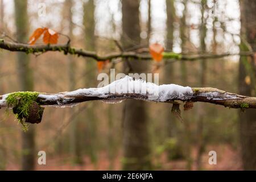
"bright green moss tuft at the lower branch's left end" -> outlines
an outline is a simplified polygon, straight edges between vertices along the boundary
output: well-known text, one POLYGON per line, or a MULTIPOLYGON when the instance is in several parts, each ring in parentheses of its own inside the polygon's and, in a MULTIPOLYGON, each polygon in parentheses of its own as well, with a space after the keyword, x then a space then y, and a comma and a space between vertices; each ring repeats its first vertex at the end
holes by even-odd
MULTIPOLYGON (((13 113, 16 114, 24 131, 27 130, 27 125, 24 123, 23 118, 27 119, 30 116, 31 107, 34 103, 37 104, 36 99, 38 95, 38 92, 15 92, 9 94, 6 98, 7 106, 13 108, 13 113)), ((39 112, 42 111, 39 109, 39 112)))

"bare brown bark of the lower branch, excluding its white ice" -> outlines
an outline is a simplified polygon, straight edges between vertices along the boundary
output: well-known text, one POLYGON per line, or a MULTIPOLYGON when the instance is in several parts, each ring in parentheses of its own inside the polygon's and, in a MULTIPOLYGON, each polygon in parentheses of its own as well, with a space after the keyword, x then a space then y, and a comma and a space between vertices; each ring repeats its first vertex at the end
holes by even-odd
MULTIPOLYGON (((69 106, 86 101, 108 101, 108 100, 142 100, 151 102, 166 102, 173 103, 174 101, 192 101, 192 102, 208 102, 210 104, 222 105, 234 109, 256 109, 256 97, 241 96, 235 93, 229 93, 216 88, 192 88, 193 94, 186 95, 187 97, 176 96, 172 100, 160 101, 158 99, 148 99, 147 94, 141 93, 106 93, 108 96, 100 97, 98 94, 71 94, 71 92, 61 92, 56 94, 40 93, 36 102, 39 105, 54 105, 54 106, 69 106), (51 96, 51 99, 49 99, 51 96)), ((0 108, 7 107, 5 98, 7 94, 0 96, 0 108)))

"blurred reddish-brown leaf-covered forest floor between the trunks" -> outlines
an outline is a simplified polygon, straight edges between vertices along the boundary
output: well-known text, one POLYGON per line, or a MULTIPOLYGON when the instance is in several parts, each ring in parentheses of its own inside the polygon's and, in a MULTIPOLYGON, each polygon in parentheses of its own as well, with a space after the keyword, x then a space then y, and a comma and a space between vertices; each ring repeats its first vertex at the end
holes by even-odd
MULTIPOLYGON (((195 162, 195 148, 192 150, 192 165, 191 169, 196 170, 195 162)), ((88 156, 84 157, 84 164, 77 165, 71 164, 70 157, 61 156, 58 158, 47 159, 46 165, 36 165, 36 170, 119 170, 121 169, 121 152, 115 156, 112 163, 109 162, 108 154, 101 152, 98 156, 98 162, 93 164, 90 162, 88 156)), ((162 154, 160 158, 154 159, 157 161, 158 167, 156 170, 186 170, 187 162, 183 160, 167 161, 167 154, 162 154)), ((14 163, 7 166, 7 170, 18 170, 19 166, 14 163)), ((242 164, 240 154, 238 150, 228 144, 222 144, 219 146, 208 146, 201 158, 201 169, 202 170, 242 170, 242 164), (210 165, 208 163, 209 155, 208 152, 214 150, 217 152, 217 164, 210 165)))

